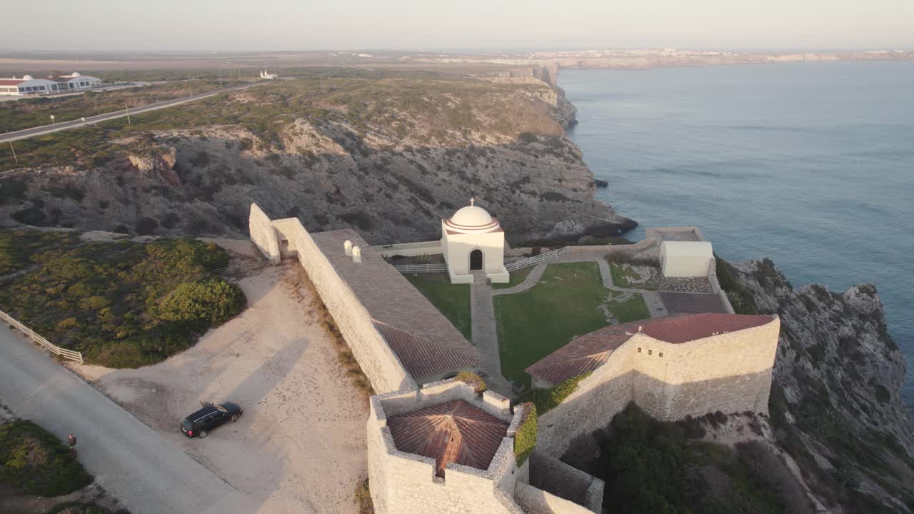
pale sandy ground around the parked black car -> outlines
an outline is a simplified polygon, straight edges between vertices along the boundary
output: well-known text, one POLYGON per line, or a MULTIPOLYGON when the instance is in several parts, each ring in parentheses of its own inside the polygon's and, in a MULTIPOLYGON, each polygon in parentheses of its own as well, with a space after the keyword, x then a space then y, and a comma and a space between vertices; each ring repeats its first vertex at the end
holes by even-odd
POLYGON ((260 270, 239 285, 250 306, 186 352, 142 369, 73 368, 180 445, 258 512, 355 512, 367 476, 367 398, 336 361, 299 266, 260 270), (238 402, 244 415, 205 439, 178 423, 199 401, 238 402))

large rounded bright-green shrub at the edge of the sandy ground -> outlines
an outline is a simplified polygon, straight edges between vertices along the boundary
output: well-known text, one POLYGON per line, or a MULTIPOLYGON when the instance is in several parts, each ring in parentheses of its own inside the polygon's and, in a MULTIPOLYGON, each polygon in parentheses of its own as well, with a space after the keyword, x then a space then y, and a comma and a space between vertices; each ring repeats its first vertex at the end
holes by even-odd
POLYGON ((162 319, 218 325, 238 315, 244 303, 239 286, 210 278, 178 285, 162 305, 162 319))

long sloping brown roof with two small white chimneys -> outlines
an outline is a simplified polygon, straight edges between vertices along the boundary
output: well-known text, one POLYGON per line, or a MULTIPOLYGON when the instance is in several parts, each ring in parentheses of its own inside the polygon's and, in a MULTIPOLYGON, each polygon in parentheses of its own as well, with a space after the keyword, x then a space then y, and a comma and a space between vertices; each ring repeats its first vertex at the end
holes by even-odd
MULTIPOLYGON (((433 341, 440 348, 446 348, 462 356, 473 356, 482 361, 479 351, 463 337, 448 318, 444 317, 423 294, 420 293, 409 280, 399 273, 374 251, 368 243, 358 235, 356 230, 332 230, 311 234, 324 256, 334 266, 336 273, 349 285, 358 301, 365 306, 368 314, 376 321, 395 327, 401 332, 413 337, 433 341), (352 258, 343 252, 343 242, 349 240, 353 245, 362 250, 362 262, 352 262, 352 258)), ((391 347, 393 348, 393 346, 391 347)), ((409 354, 410 348, 423 348, 423 345, 404 344, 403 354, 397 351, 398 357, 406 365, 407 361, 416 363, 416 369, 440 369, 439 363, 420 361, 430 354, 423 352, 418 355, 409 354)), ((460 364, 462 359, 449 361, 460 364)), ((463 365, 443 371, 453 371, 464 368, 463 365)), ((442 371, 442 372, 443 372, 442 371)), ((411 373, 410 373, 411 374, 411 373)), ((413 379, 421 376, 413 375, 413 379)))

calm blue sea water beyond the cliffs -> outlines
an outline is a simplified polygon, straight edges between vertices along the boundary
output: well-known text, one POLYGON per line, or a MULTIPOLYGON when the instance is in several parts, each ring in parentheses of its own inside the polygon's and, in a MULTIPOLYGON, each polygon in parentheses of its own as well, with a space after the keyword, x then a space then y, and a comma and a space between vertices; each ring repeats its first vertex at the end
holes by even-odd
MULTIPOLYGON (((914 362, 914 62, 562 70, 598 198, 794 287, 875 284, 914 362)), ((902 390, 914 407, 914 380, 902 390)))

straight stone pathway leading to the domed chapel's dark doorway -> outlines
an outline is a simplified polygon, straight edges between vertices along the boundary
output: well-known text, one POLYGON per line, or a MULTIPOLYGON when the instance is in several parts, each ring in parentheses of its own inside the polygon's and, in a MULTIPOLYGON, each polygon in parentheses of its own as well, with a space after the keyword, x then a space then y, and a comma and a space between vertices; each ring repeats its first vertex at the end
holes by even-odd
POLYGON ((515 396, 511 382, 502 376, 502 359, 498 350, 498 327, 495 325, 495 308, 492 286, 485 284, 485 273, 473 272, 470 286, 470 310, 473 328, 473 346, 485 359, 485 383, 489 389, 507 398, 515 396))

